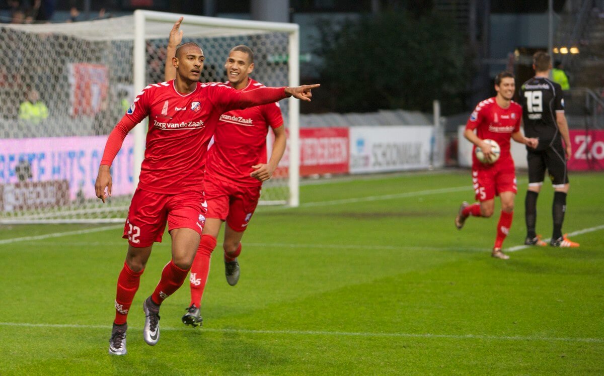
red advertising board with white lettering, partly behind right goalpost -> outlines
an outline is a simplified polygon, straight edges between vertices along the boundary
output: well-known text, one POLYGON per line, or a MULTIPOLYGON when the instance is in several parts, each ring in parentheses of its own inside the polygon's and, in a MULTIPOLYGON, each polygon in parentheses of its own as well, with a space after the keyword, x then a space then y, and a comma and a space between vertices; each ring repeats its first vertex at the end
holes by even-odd
MULTIPOLYGON (((300 176, 348 173, 349 148, 348 128, 300 129, 300 176)), ((289 144, 275 174, 287 173, 288 165, 289 144)))

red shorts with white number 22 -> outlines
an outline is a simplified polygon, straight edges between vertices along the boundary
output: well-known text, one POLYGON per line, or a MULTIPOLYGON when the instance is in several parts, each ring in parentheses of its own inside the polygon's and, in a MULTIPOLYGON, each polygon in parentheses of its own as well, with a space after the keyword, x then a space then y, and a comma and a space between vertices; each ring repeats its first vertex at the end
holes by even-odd
POLYGON ((199 233, 205 225, 204 194, 190 191, 180 194, 153 193, 137 188, 130 202, 124 225, 124 239, 133 247, 149 247, 161 242, 165 223, 168 229, 188 228, 199 233))

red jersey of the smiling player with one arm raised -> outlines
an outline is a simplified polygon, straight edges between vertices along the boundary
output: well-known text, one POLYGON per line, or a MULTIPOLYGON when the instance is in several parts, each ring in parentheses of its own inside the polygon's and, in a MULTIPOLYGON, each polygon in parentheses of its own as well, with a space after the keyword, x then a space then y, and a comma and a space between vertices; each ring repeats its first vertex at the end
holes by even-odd
MULTIPOLYGON (((248 86, 242 90, 263 87, 263 84, 249 78, 248 86)), ((208 151, 206 174, 245 186, 262 185, 249 174, 254 171, 253 165, 267 161, 268 127, 275 129, 282 125, 283 116, 278 103, 223 113, 214 133, 214 144, 208 151)))

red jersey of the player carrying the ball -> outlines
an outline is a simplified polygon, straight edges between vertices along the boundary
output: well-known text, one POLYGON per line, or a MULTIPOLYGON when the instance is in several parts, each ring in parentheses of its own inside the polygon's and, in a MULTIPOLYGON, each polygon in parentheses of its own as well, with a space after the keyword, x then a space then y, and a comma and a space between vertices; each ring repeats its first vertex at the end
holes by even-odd
MULTIPOLYGON (((510 106, 503 109, 492 97, 478 103, 467 121, 466 129, 475 129, 479 138, 490 138, 499 144, 501 156, 495 164, 513 163, 510 138, 512 133, 520 130, 521 118, 522 107, 518 103, 510 101, 510 106)), ((476 145, 472 148, 472 168, 486 167, 476 158, 475 148, 476 145)))

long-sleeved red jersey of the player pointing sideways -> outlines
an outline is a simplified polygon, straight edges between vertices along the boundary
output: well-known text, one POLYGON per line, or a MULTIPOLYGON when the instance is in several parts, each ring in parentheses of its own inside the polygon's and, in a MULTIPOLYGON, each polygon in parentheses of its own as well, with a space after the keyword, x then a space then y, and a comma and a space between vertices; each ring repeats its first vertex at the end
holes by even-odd
POLYGON ((101 165, 111 165, 129 130, 149 116, 138 186, 164 194, 203 190, 208 143, 220 115, 285 97, 285 88, 243 92, 222 83, 197 83, 193 92, 181 94, 173 80, 149 85, 112 130, 101 165))

